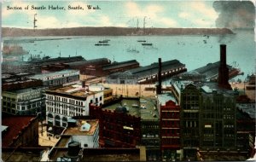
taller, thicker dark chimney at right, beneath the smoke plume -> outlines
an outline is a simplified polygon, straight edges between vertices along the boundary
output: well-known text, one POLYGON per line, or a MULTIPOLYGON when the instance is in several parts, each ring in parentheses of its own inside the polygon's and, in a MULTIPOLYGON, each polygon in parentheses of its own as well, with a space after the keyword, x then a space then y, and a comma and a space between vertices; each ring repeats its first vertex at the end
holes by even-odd
POLYGON ((226 64, 226 45, 220 44, 220 62, 218 67, 218 87, 232 90, 229 84, 229 68, 226 64))

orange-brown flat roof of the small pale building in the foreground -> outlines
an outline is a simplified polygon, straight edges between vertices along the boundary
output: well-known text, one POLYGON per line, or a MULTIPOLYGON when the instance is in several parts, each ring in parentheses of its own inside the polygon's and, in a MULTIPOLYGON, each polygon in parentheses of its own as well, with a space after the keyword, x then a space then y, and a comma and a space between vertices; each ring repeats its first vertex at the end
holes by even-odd
POLYGON ((92 135, 94 135, 96 128, 98 126, 99 126, 99 120, 79 119, 79 120, 77 120, 77 126, 76 127, 67 127, 67 129, 63 132, 63 135, 92 136, 92 135), (90 124, 90 130, 81 131, 80 128, 85 123, 90 124))

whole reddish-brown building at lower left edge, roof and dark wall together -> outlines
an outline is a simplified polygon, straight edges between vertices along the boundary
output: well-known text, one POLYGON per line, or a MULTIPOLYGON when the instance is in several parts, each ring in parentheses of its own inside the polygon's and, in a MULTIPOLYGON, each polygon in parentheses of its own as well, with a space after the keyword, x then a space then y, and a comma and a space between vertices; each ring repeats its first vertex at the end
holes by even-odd
POLYGON ((3 116, 2 148, 38 147, 38 116, 3 116))

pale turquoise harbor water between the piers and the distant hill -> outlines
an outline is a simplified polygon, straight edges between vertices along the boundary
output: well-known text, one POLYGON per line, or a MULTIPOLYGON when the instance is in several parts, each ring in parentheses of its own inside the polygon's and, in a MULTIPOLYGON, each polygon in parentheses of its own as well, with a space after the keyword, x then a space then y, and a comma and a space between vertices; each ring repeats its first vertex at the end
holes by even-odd
MULTIPOLYGON (((111 61, 137 60, 141 66, 177 59, 186 65, 188 71, 219 61, 219 44, 227 45, 227 63, 241 68, 240 78, 254 72, 255 44, 254 32, 237 30, 236 34, 218 35, 182 35, 182 36, 100 36, 100 37, 37 37, 3 38, 3 45, 18 44, 29 52, 23 55, 28 60, 31 55, 41 58, 68 57, 82 55, 84 59, 108 58, 111 61), (109 39, 109 45, 95 44, 109 39), (142 45, 145 40, 152 45, 142 45), (132 50, 131 50, 132 49, 132 50)), ((21 59, 21 57, 20 57, 21 59)))

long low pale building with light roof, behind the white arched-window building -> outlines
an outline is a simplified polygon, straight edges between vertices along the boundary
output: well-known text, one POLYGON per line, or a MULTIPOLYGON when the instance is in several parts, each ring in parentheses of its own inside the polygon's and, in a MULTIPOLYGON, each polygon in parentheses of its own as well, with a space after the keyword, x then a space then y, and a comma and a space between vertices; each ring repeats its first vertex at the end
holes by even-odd
POLYGON ((45 87, 79 83, 79 70, 63 70, 33 75, 29 78, 43 81, 45 87))

